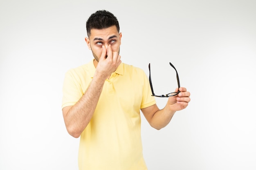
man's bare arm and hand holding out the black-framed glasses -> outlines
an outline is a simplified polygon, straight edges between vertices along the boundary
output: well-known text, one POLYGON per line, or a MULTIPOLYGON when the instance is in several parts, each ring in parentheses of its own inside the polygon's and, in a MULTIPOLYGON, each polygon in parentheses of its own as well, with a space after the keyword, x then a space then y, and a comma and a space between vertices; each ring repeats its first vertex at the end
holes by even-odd
POLYGON ((142 108, 141 112, 144 114, 150 126, 160 130, 171 121, 176 111, 188 106, 190 102, 189 96, 190 93, 186 91, 186 88, 180 87, 180 93, 177 96, 169 97, 166 106, 162 110, 154 104, 147 108, 142 108))

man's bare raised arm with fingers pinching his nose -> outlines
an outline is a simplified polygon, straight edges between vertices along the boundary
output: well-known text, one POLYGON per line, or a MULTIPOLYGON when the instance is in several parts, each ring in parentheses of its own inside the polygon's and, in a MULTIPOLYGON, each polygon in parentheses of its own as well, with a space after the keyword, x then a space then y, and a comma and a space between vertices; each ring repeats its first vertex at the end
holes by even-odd
POLYGON ((99 101, 105 80, 121 64, 121 56, 117 52, 112 52, 111 46, 108 46, 108 58, 105 58, 105 46, 102 48, 103 51, 99 58, 99 63, 87 90, 74 106, 67 106, 62 109, 67 132, 76 138, 80 137, 83 130, 89 124, 99 101))

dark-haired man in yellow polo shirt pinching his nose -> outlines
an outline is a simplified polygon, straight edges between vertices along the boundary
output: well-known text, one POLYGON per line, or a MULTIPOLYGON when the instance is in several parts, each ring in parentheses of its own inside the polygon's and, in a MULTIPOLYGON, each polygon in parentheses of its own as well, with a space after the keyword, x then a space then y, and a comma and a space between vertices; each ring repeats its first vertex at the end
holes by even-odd
POLYGON ((86 29, 94 59, 66 73, 62 104, 68 133, 80 137, 79 170, 146 170, 140 110, 159 130, 188 106, 190 93, 181 87, 159 110, 144 71, 121 63, 117 18, 97 11, 86 29))

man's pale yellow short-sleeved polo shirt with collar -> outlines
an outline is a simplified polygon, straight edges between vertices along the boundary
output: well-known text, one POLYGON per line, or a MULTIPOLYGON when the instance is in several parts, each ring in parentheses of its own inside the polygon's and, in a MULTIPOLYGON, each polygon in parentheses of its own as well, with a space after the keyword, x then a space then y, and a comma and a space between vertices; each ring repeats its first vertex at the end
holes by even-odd
MULTIPOLYGON (((92 81, 93 60, 65 75, 63 104, 73 106, 92 81)), ((106 79, 90 123, 80 136, 79 170, 146 170, 140 109, 155 104, 144 71, 121 63, 106 79)))

